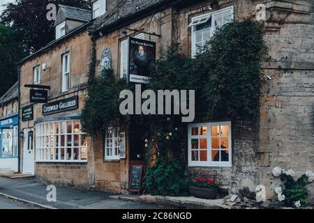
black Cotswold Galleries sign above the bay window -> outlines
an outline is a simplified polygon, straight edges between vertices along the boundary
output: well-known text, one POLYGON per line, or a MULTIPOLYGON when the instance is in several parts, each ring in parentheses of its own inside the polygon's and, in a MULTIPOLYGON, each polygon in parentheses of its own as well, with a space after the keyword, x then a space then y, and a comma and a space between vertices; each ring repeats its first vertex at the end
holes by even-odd
POLYGON ((74 96, 43 105, 43 115, 78 109, 78 97, 74 96))

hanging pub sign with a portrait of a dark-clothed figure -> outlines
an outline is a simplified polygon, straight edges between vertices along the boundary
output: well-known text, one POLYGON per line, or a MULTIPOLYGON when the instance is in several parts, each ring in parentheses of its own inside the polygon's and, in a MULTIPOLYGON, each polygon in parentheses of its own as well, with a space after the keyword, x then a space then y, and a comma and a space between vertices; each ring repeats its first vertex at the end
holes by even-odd
POLYGON ((156 43, 129 38, 128 46, 128 80, 147 84, 149 67, 152 62, 156 61, 156 43))

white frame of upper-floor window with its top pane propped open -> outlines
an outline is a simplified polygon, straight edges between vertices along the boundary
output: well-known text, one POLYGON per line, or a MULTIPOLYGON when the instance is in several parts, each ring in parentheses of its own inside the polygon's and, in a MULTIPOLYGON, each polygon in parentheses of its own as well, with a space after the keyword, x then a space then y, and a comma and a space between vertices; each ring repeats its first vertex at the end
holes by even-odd
MULTIPOLYGON (((199 16, 195 16, 192 18, 190 24, 188 25, 188 27, 191 27, 191 33, 192 33, 192 38, 191 38, 191 45, 192 45, 192 57, 194 58, 195 56, 197 56, 196 53, 196 31, 195 31, 195 26, 200 25, 200 24, 204 24, 206 22, 208 22, 208 20, 211 18, 211 28, 209 29, 209 38, 211 38, 211 36, 214 35, 215 30, 217 29, 218 26, 215 26, 215 16, 220 14, 220 13, 225 13, 226 11, 230 10, 230 15, 231 15, 231 20, 230 22, 232 22, 232 20, 234 20, 234 7, 230 6, 227 8, 223 8, 221 10, 217 10, 213 13, 207 13, 205 15, 199 15, 199 16), (204 19, 204 20, 202 20, 204 19)), ((205 30, 205 29, 204 29, 205 30)), ((203 31, 204 31, 203 30, 203 31)), ((207 38, 207 40, 209 40, 209 38, 207 38)))

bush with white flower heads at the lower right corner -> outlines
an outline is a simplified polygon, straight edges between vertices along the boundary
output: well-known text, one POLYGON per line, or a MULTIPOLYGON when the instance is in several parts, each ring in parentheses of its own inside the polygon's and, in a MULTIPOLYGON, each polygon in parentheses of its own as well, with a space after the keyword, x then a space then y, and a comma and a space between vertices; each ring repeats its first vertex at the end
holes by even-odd
POLYGON ((283 185, 275 188, 279 201, 285 203, 286 206, 296 208, 307 203, 309 194, 307 185, 314 180, 312 171, 306 171, 297 180, 294 180, 295 173, 292 169, 286 171, 280 167, 275 167, 273 169, 273 175, 281 178, 283 181, 283 185))

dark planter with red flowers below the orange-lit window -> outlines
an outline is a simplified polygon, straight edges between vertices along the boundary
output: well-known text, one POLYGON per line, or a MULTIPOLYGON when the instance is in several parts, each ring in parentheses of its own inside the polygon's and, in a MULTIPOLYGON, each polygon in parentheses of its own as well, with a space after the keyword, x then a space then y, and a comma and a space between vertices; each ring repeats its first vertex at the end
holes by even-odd
POLYGON ((191 196, 202 199, 216 199, 218 195, 218 184, 216 179, 195 178, 190 181, 189 192, 191 196))

